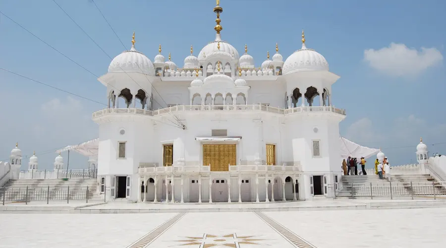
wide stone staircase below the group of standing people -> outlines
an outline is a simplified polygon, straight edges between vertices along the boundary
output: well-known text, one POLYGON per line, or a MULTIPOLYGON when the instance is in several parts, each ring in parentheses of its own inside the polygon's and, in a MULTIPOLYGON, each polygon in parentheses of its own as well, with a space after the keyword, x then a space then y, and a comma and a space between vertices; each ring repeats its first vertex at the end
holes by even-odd
POLYGON ((355 196, 417 196, 446 195, 445 184, 436 182, 428 174, 391 175, 391 184, 387 179, 380 180, 378 175, 342 176, 342 189, 336 192, 339 197, 355 196), (353 185, 353 190, 352 190, 353 185), (390 187, 391 185, 391 187, 390 187))

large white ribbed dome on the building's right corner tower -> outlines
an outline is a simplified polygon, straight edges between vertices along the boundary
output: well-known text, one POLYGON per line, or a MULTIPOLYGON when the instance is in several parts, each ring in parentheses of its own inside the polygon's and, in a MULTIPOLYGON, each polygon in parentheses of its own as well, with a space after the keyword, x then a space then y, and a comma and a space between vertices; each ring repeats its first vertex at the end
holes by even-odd
POLYGON ((329 65, 327 60, 314 51, 305 47, 305 43, 302 44, 302 49, 294 52, 283 63, 283 75, 304 70, 322 70, 328 71, 329 65))

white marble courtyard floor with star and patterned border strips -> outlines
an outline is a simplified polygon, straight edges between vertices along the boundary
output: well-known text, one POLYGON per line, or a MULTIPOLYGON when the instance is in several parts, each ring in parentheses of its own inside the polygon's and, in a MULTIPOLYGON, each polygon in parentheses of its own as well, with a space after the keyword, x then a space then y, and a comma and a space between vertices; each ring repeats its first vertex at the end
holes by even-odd
POLYGON ((1 248, 444 248, 446 208, 0 214, 1 248))

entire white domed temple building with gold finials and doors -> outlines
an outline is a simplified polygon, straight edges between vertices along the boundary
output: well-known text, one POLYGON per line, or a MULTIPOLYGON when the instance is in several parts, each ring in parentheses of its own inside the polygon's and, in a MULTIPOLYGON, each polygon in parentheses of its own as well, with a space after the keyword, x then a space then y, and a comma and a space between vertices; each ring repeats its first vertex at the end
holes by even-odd
MULTIPOLYGON (((132 46, 99 81, 98 181, 106 199, 244 202, 332 197, 340 177, 339 76, 305 44, 284 62, 254 59, 215 39, 179 68, 162 46, 151 62, 132 46), (155 91, 156 92, 153 92, 155 91), (106 189, 106 190, 104 190, 106 189), (104 192, 105 191, 105 192, 104 192)), ((274 44, 273 44, 274 46, 274 44)), ((375 153, 376 154, 376 153, 375 153)))

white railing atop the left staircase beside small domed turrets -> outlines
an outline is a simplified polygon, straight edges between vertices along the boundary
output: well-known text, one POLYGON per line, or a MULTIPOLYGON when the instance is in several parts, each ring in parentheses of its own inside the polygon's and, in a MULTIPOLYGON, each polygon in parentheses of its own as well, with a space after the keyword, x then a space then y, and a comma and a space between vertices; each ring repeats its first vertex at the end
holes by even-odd
POLYGON ((97 170, 31 170, 20 171, 20 179, 96 178, 97 170))

